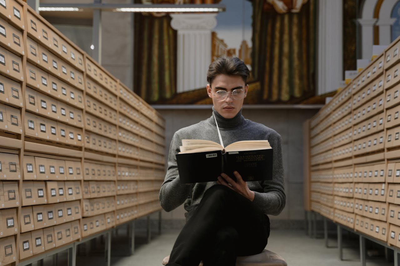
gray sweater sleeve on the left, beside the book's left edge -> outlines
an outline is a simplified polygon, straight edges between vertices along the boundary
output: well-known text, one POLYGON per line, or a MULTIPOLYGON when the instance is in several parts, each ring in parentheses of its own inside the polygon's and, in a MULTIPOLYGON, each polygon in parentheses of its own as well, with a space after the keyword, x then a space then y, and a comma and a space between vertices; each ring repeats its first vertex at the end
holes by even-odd
POLYGON ((172 137, 170 152, 168 155, 168 169, 160 189, 160 204, 167 212, 180 206, 188 198, 192 191, 191 185, 181 184, 179 180, 178 165, 176 163, 176 153, 182 139, 178 132, 172 137))

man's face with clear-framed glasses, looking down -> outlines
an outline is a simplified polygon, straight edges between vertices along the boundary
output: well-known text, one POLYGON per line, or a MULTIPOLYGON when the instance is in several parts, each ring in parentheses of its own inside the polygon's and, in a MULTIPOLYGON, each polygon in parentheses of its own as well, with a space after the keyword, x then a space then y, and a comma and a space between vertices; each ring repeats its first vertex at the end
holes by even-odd
MULTIPOLYGON (((248 86, 244 83, 240 75, 216 75, 212 84, 207 85, 207 93, 212 98, 214 109, 224 118, 235 117, 240 109, 242 109, 243 100, 246 97, 248 86), (228 93, 228 97, 224 101, 218 101, 217 91, 232 92, 234 89, 242 89, 244 91, 243 99, 236 100, 232 93, 228 93)), ((236 97, 238 98, 238 97, 236 97)))

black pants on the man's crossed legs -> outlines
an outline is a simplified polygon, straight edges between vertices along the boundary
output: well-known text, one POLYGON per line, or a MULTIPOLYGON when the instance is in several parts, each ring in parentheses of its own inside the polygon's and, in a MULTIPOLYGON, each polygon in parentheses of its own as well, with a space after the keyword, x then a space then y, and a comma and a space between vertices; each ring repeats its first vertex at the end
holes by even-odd
POLYGON ((264 250, 270 221, 260 208, 223 185, 204 193, 175 241, 169 266, 234 266, 236 256, 264 250))

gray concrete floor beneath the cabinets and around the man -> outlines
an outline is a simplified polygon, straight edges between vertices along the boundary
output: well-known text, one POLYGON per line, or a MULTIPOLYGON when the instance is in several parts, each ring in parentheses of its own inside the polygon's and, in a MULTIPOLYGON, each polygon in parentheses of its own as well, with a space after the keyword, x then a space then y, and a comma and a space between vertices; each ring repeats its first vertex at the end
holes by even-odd
MULTIPOLYGON (((162 259, 167 256, 175 239, 178 230, 169 230, 158 235, 152 232, 152 240, 146 243, 146 231, 135 230, 135 252, 128 256, 128 238, 126 230, 119 229, 118 234, 112 238, 111 265, 112 266, 161 266, 162 259)), ((280 254, 285 258, 289 266, 360 266, 358 247, 358 236, 356 234, 343 233, 343 258, 338 259, 338 248, 335 232, 329 234, 328 245, 325 247, 325 240, 321 238, 310 238, 304 230, 272 230, 268 239, 267 249, 280 254)), ((90 251, 86 254, 84 245, 81 246, 76 257, 77 266, 103 266, 104 240, 98 238, 91 242, 90 251)), ((390 250, 388 257, 391 262, 386 261, 384 248, 366 240, 368 253, 376 253, 375 256, 367 257, 367 266, 393 266, 393 252, 390 250)), ((58 254, 57 266, 66 266, 66 252, 58 254)), ((52 258, 46 258, 43 264, 34 263, 32 266, 53 265, 52 258)))

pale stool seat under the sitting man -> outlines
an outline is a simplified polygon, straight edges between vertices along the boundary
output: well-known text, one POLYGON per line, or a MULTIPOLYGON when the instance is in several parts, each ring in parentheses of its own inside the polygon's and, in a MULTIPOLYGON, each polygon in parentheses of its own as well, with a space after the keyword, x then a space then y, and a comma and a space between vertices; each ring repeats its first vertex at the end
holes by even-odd
MULTIPOLYGON (((170 256, 166 256, 164 260, 162 260, 162 265, 166 265, 170 256)), ((287 266, 288 264, 278 254, 264 249, 260 254, 238 257, 236 259, 236 266, 287 266)), ((203 263, 200 262, 199 266, 203 266, 203 263)))

